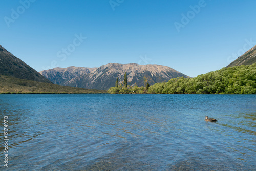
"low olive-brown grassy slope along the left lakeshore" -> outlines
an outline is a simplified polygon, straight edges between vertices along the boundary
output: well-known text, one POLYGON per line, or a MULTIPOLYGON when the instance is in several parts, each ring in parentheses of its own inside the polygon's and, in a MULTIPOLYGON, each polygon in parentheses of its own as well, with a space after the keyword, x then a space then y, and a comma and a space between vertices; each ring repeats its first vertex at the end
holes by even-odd
MULTIPOLYGON (((19 79, 0 75, 0 94, 4 93, 106 93, 105 90, 92 90, 59 86, 52 83, 19 79)), ((8 94, 9 94, 8 93, 8 94)))

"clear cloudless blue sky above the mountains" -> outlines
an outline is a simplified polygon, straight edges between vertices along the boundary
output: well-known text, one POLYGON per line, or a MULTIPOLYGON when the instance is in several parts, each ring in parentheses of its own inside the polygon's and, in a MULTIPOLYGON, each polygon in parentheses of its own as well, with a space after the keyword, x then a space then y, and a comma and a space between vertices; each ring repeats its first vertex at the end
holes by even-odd
POLYGON ((37 71, 139 63, 195 77, 256 45, 255 0, 0 2, 0 44, 37 71))

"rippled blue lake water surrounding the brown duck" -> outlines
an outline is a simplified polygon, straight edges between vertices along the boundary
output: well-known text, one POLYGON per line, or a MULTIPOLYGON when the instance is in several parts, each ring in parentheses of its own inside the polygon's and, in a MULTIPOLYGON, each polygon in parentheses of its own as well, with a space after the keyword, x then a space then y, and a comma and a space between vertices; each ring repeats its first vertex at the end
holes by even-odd
POLYGON ((5 170, 256 170, 256 95, 0 95, 0 113, 5 170))

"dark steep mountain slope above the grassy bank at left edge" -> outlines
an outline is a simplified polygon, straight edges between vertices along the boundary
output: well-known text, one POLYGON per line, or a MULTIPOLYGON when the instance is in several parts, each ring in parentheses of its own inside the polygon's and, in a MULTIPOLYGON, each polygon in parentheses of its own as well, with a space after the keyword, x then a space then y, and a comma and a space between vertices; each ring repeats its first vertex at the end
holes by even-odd
POLYGON ((52 83, 0 45, 0 75, 52 83))

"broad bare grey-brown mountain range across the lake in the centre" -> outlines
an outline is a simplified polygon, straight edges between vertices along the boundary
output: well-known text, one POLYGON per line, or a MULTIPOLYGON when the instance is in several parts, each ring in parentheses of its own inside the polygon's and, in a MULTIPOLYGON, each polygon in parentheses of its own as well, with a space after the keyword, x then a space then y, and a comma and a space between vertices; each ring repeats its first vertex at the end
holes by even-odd
POLYGON ((120 83, 122 83, 125 72, 127 73, 128 84, 133 85, 136 83, 138 86, 143 86, 144 76, 151 85, 157 82, 167 82, 171 78, 188 77, 170 67, 161 65, 138 65, 136 63, 108 63, 99 68, 54 68, 41 71, 40 73, 52 82, 56 82, 60 85, 107 90, 115 86, 116 77, 118 77, 120 83), (88 73, 85 73, 85 70, 88 73), (84 73, 79 73, 78 71, 83 71, 84 73))

